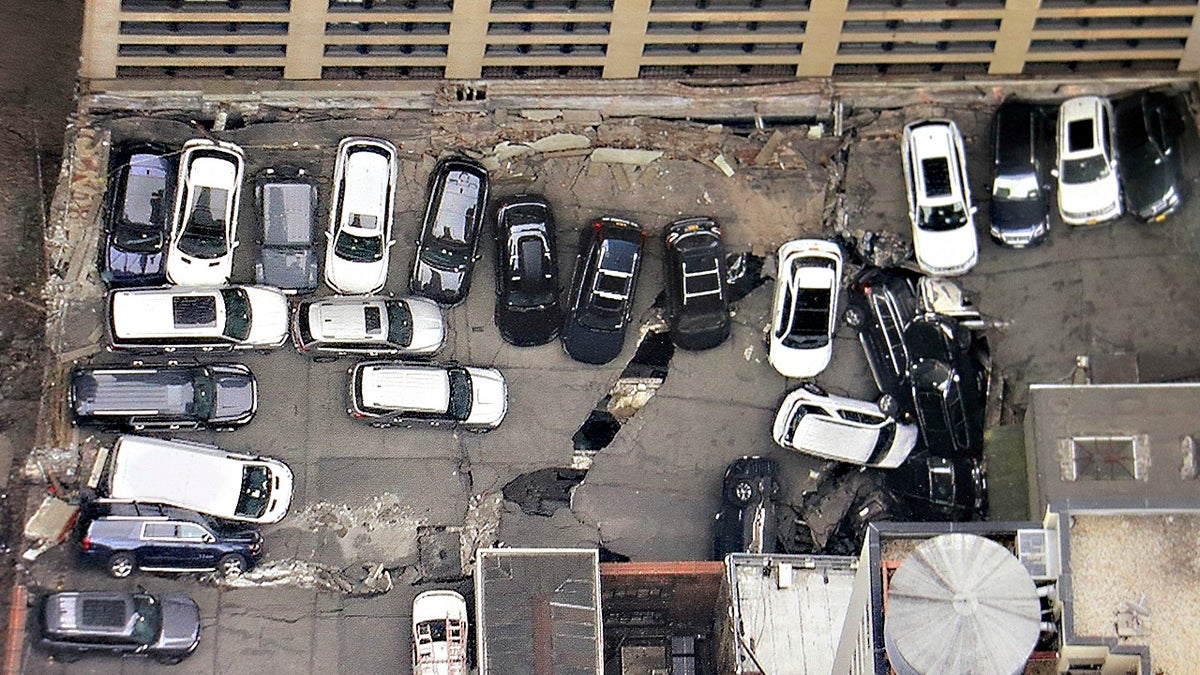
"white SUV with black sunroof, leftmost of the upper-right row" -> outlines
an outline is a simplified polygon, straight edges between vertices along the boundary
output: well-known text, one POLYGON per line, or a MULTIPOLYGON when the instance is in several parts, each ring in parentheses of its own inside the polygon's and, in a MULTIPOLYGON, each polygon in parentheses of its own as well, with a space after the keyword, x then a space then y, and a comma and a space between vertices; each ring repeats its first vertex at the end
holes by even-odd
POLYGON ((928 274, 965 274, 979 258, 962 135, 950 120, 904 127, 904 183, 917 264, 928 274))

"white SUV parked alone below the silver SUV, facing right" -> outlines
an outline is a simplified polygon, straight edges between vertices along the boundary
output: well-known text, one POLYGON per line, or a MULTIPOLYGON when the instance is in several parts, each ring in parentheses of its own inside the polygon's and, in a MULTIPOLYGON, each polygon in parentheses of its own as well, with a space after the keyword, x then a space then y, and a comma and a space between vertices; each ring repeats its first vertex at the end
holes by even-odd
POLYGON ((354 364, 349 374, 346 412, 372 426, 490 431, 509 410, 508 384, 493 368, 368 360, 354 364))

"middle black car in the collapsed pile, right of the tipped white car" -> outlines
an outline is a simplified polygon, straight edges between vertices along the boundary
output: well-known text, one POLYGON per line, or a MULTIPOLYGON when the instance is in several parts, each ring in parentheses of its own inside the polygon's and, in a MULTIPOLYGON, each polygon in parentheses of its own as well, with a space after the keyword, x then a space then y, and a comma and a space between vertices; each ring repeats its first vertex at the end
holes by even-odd
POLYGON ((950 317, 920 316, 905 330, 913 410, 938 456, 978 456, 990 362, 986 345, 950 317))

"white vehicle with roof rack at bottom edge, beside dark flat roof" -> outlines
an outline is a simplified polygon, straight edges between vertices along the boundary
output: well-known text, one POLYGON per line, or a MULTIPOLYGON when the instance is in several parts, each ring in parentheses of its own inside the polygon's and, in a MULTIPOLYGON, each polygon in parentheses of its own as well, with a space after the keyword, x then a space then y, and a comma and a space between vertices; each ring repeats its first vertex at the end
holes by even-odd
POLYGON ((413 598, 413 675, 467 675, 467 601, 455 591, 413 598))

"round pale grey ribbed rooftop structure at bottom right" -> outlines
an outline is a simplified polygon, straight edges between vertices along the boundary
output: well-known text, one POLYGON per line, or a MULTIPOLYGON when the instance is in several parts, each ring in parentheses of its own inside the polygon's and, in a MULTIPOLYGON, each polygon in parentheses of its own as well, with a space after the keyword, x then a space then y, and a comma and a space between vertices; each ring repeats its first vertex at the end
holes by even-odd
POLYGON ((1025 669, 1039 619, 1033 579, 1008 549, 942 534, 892 575, 883 638, 900 675, 1009 675, 1025 669))

